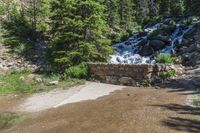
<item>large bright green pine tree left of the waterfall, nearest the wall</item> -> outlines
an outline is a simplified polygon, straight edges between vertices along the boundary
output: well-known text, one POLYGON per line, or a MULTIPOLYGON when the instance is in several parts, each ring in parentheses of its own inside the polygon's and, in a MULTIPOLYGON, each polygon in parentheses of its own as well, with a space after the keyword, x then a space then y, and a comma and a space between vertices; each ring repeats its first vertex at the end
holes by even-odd
POLYGON ((65 68, 83 61, 106 61, 112 48, 104 6, 95 0, 58 0, 51 5, 54 62, 65 68))

